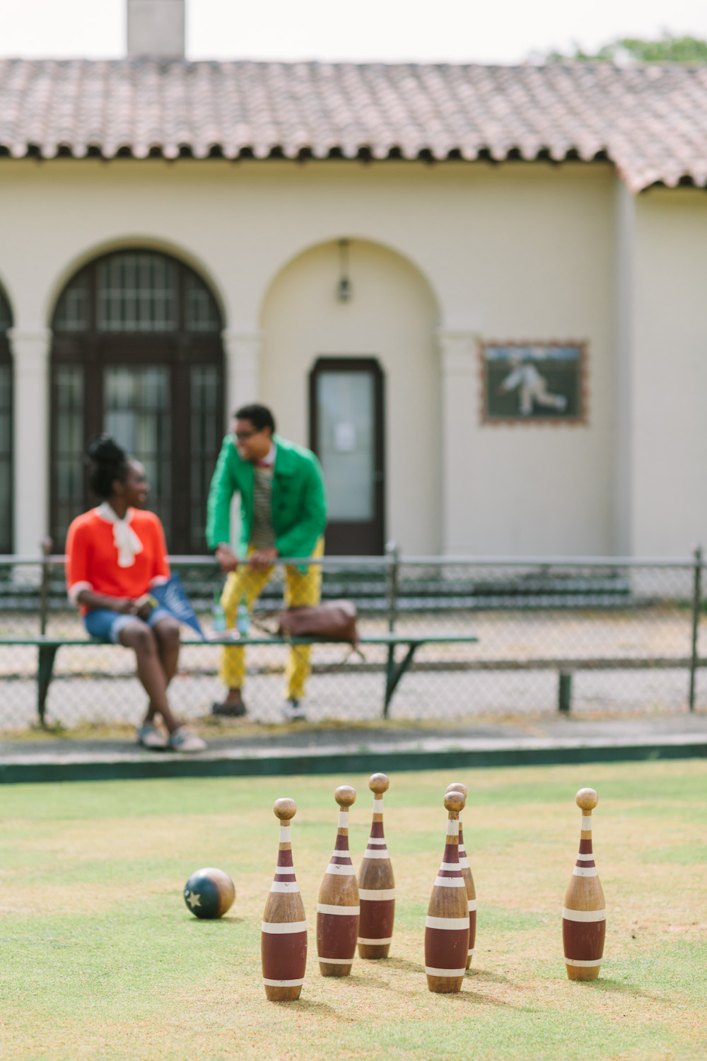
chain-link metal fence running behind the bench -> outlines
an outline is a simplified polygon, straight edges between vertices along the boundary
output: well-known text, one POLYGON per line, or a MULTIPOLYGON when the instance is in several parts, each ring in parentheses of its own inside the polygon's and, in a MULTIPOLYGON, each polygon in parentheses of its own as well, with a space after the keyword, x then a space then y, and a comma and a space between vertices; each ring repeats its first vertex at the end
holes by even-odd
MULTIPOLYGON (((326 557, 322 598, 356 603, 360 632, 424 641, 390 703, 391 720, 547 713, 687 711, 707 701, 701 653, 707 606, 700 551, 684 560, 624 558, 326 557), (456 641, 474 634, 477 643, 456 641)), ((212 557, 174 557, 205 628, 223 576, 212 557)), ((282 606, 278 566, 255 616, 282 606)), ((254 630, 253 630, 254 632, 254 630)), ((0 727, 37 721, 35 643, 22 638, 85 637, 66 598, 64 557, 0 557, 0 727)), ((397 658, 405 654, 401 645, 397 658)), ((219 647, 185 644, 170 696, 187 718, 223 697, 219 647)), ((288 648, 247 649, 244 699, 253 721, 281 720, 288 648)), ((347 659, 344 645, 316 645, 307 683, 312 721, 383 715, 385 645, 347 659)), ((145 694, 135 657, 91 643, 58 649, 46 720, 136 723, 145 694)))

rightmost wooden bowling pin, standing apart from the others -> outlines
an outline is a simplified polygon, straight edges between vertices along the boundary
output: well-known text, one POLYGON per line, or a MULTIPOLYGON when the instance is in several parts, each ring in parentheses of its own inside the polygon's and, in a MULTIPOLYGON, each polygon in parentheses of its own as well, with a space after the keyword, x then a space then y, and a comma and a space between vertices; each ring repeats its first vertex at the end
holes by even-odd
POLYGON ((594 788, 580 788, 576 800, 582 808, 580 853, 565 892, 562 940, 570 980, 596 980, 606 933, 606 903, 591 852, 591 812, 599 797, 594 788))

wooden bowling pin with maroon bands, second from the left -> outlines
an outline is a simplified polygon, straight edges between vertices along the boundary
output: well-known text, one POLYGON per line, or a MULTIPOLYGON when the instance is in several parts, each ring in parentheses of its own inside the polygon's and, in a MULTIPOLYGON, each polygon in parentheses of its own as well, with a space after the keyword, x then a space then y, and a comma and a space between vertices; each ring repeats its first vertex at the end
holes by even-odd
POLYGON ((339 804, 339 827, 319 889, 317 953, 322 976, 348 976, 358 939, 358 885, 349 854, 349 807, 356 793, 350 785, 339 785, 334 798, 339 804))

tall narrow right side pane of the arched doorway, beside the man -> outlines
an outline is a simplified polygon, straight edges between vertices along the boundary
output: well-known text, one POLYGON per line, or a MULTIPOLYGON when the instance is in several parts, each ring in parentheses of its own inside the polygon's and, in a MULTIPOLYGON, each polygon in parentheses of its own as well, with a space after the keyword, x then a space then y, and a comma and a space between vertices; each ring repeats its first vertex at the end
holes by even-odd
POLYGON ((215 365, 191 371, 192 542, 206 549, 207 498, 222 442, 222 396, 215 365))

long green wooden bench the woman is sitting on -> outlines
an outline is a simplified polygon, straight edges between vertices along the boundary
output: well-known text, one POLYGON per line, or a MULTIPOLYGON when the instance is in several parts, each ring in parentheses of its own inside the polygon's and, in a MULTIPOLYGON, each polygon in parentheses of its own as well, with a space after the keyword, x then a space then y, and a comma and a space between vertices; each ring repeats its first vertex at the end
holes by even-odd
MULTIPOLYGON (((360 638, 360 645, 384 645, 387 648, 386 660, 386 684, 383 701, 383 717, 388 717, 391 700, 397 689, 401 678, 409 669, 414 654, 422 645, 443 645, 443 644, 475 644, 478 638, 471 633, 373 633, 365 634, 360 638), (395 648, 399 645, 406 646, 406 653, 401 660, 395 660, 395 648)), ((208 641, 199 641, 196 638, 182 640, 182 645, 229 645, 231 647, 249 645, 340 645, 340 641, 328 641, 322 638, 279 638, 279 637, 248 637, 242 640, 232 637, 213 637, 208 641)), ((54 661, 59 648, 66 645, 84 646, 95 648, 111 647, 103 641, 94 641, 88 638, 52 638, 49 634, 40 634, 34 638, 0 638, 0 648, 3 646, 35 646, 38 650, 37 661, 37 714, 40 725, 45 725, 47 710, 47 694, 54 677, 54 661)))

